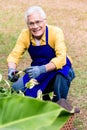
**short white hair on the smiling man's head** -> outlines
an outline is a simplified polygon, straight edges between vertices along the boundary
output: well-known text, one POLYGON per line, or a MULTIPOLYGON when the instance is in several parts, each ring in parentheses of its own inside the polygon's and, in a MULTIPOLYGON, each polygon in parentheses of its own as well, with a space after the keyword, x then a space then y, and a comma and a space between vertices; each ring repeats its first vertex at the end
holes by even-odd
POLYGON ((44 10, 39 7, 39 6, 31 6, 28 8, 28 10, 25 12, 25 21, 27 22, 27 17, 29 15, 31 15, 33 12, 38 12, 41 14, 41 16, 45 19, 46 18, 46 14, 44 12, 44 10))

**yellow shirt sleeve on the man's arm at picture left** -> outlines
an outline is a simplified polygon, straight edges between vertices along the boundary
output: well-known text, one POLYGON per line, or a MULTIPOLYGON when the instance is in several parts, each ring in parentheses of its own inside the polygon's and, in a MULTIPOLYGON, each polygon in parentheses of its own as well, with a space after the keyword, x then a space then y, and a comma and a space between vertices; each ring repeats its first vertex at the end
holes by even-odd
POLYGON ((19 35, 16 45, 7 58, 7 62, 18 64, 29 44, 29 32, 23 30, 19 35))

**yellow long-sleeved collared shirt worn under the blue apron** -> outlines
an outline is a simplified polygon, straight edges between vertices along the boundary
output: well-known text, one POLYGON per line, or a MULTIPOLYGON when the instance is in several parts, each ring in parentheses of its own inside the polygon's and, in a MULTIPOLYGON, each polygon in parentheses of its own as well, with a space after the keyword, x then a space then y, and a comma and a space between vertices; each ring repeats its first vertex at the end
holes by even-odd
MULTIPOLYGON (((56 57, 51 59, 57 69, 61 69, 66 64, 66 45, 64 43, 64 35, 60 28, 47 25, 48 26, 48 43, 54 49, 56 57)), ((19 63, 20 58, 24 52, 29 48, 30 41, 34 46, 36 46, 35 39, 32 37, 29 29, 22 30, 17 43, 9 54, 7 62, 14 62, 15 64, 19 63)), ((45 45, 45 33, 40 39, 40 45, 45 45)))

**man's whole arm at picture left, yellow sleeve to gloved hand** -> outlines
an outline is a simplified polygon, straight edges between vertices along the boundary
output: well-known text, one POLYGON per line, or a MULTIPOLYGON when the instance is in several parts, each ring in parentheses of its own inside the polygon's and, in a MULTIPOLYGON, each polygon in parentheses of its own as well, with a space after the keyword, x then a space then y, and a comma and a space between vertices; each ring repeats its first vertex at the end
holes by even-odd
POLYGON ((29 38, 26 37, 29 35, 26 35, 25 32, 22 32, 21 35, 19 36, 17 43, 14 47, 14 49, 12 50, 12 52, 9 54, 8 58, 7 58, 7 62, 8 62, 8 79, 11 82, 15 82, 18 80, 19 75, 16 75, 16 73, 18 72, 16 70, 17 68, 17 64, 19 63, 19 60, 21 58, 21 56, 23 55, 24 51, 26 50, 28 44, 29 43, 29 38))

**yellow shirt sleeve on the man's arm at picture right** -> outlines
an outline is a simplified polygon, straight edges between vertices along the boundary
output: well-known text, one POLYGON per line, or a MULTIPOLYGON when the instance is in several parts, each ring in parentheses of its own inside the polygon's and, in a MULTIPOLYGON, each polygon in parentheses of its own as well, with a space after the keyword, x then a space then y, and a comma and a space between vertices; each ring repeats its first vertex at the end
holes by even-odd
POLYGON ((53 62, 57 69, 61 69, 66 64, 66 45, 64 42, 64 34, 60 28, 55 28, 53 31, 52 46, 55 50, 55 55, 51 62, 53 62))

